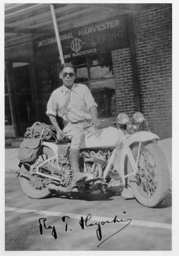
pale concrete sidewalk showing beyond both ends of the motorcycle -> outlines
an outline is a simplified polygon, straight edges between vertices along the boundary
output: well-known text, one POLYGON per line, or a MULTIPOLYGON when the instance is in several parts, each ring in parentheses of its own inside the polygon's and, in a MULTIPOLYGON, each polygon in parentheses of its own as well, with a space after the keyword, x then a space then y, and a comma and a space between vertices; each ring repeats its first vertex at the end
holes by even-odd
MULTIPOLYGON (((172 138, 158 141, 158 145, 164 151, 166 156, 170 178, 172 176, 172 138)), ((19 169, 19 160, 17 158, 19 148, 6 148, 5 149, 5 171, 9 169, 19 169)))

